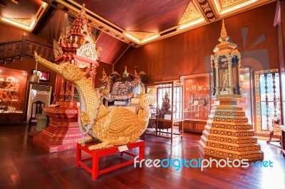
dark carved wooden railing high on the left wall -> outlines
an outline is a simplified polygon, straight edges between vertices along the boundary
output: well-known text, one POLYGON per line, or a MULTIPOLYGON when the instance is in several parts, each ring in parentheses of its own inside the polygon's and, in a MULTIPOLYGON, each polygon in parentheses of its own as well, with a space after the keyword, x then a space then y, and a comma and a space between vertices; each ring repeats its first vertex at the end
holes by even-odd
POLYGON ((21 60, 22 57, 33 58, 34 51, 42 58, 54 61, 52 47, 29 41, 26 35, 23 35, 21 41, 0 43, 0 64, 6 64, 6 61, 14 62, 14 59, 21 60))

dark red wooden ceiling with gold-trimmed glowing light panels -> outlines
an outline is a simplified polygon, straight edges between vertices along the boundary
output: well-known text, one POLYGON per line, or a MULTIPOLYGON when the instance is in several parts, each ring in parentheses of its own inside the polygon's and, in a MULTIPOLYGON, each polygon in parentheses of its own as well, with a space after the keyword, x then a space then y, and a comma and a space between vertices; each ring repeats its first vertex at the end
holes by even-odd
POLYGON ((15 1, 0 0, 1 22, 31 32, 47 6, 76 17, 85 4, 90 23, 102 31, 96 39, 96 45, 103 48, 101 59, 114 64, 130 46, 140 48, 276 0, 15 1))

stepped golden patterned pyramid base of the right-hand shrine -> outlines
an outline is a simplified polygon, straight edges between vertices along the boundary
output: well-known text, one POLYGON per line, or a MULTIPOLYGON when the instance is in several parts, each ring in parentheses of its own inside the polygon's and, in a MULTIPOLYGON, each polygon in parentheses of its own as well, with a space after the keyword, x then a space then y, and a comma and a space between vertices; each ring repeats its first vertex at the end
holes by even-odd
POLYGON ((264 158, 252 125, 248 123, 242 107, 235 105, 239 98, 240 95, 216 97, 220 103, 211 110, 199 141, 199 150, 205 156, 249 161, 264 158))

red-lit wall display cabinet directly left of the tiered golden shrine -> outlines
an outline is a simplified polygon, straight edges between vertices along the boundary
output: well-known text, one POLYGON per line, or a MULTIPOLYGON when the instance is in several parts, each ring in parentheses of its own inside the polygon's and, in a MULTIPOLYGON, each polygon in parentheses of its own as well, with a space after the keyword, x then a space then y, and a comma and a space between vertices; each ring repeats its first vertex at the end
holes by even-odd
POLYGON ((185 86, 184 129, 200 133, 212 108, 211 73, 183 75, 180 82, 185 86))

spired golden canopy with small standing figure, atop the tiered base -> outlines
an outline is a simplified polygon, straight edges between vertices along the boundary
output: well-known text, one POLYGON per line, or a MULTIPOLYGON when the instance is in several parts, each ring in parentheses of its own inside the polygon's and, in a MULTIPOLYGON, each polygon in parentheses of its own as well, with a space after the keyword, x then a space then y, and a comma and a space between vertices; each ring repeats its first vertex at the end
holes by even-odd
POLYGON ((214 47, 214 55, 211 55, 213 95, 240 95, 239 66, 241 55, 237 50, 237 45, 228 40, 224 20, 222 20, 220 43, 214 47))

